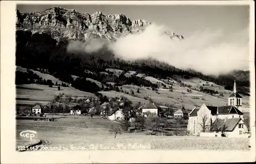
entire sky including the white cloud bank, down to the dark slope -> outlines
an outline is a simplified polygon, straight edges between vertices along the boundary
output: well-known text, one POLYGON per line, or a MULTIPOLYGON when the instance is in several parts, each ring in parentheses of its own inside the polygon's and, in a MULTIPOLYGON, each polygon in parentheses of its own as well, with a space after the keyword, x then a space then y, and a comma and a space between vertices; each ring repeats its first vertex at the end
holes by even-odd
POLYGON ((125 60, 151 57, 178 68, 216 75, 249 68, 249 6, 18 5, 17 9, 36 12, 53 6, 89 14, 123 14, 131 20, 153 22, 143 34, 127 36, 109 46, 125 60), (159 32, 166 28, 182 35, 184 41, 171 42, 160 36, 159 32))

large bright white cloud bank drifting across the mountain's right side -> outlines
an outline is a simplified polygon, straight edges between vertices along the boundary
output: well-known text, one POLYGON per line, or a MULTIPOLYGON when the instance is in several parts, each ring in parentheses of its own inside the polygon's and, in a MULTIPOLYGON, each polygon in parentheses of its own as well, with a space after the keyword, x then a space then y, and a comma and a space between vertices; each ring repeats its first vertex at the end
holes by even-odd
POLYGON ((123 60, 153 58, 205 74, 218 75, 249 67, 247 29, 231 35, 221 30, 205 29, 186 36, 182 41, 162 35, 166 29, 165 26, 152 24, 143 33, 122 37, 109 48, 123 60))

